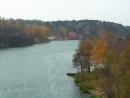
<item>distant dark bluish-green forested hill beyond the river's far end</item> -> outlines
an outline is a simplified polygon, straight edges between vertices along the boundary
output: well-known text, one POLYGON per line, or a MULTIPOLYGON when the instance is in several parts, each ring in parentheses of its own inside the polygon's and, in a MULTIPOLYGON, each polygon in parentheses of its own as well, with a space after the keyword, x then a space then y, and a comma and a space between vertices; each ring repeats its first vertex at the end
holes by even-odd
POLYGON ((72 21, 50 21, 44 22, 40 20, 25 20, 27 24, 44 24, 50 28, 50 35, 62 38, 69 37, 69 33, 77 34, 77 39, 85 36, 95 37, 99 30, 118 33, 120 36, 127 36, 130 33, 129 26, 123 26, 114 22, 106 22, 99 20, 72 20, 72 21))

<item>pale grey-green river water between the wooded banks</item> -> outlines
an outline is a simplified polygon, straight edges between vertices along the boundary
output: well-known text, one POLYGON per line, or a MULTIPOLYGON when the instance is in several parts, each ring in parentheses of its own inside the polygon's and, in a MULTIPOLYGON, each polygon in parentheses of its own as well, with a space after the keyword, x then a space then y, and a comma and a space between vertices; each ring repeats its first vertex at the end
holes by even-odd
POLYGON ((0 50, 0 98, 86 98, 66 75, 79 41, 0 50))

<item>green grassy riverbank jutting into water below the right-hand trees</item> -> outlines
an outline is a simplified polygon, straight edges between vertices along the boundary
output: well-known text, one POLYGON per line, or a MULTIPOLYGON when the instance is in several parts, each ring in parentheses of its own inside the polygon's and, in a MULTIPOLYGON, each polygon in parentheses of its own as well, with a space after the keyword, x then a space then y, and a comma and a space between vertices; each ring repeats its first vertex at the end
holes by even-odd
POLYGON ((100 92, 93 86, 93 81, 98 78, 95 72, 67 73, 67 75, 74 78, 76 86, 79 87, 82 93, 90 94, 91 98, 102 98, 100 92))

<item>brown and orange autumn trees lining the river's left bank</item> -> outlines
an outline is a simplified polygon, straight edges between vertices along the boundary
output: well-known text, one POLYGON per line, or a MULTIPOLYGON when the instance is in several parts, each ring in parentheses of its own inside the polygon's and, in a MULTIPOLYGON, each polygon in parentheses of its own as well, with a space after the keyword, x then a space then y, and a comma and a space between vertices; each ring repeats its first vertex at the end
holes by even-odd
POLYGON ((0 19, 0 48, 28 46, 48 41, 46 25, 26 24, 23 20, 0 19))

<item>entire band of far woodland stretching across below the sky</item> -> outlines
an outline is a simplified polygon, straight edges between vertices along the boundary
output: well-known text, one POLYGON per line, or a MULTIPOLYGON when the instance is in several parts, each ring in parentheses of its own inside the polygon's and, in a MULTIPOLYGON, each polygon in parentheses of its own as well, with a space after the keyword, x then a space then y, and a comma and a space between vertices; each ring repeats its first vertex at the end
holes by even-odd
POLYGON ((126 37, 130 27, 98 20, 51 21, 0 18, 0 48, 27 46, 53 39, 96 37, 98 31, 118 33, 126 37))

